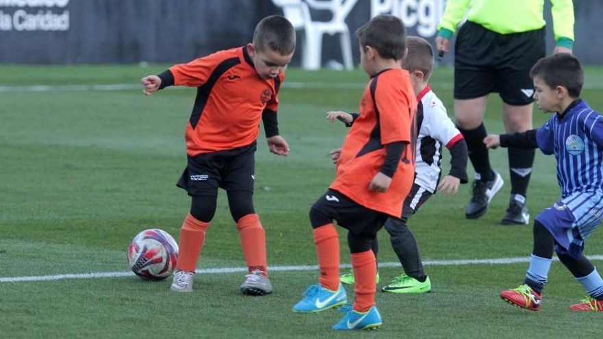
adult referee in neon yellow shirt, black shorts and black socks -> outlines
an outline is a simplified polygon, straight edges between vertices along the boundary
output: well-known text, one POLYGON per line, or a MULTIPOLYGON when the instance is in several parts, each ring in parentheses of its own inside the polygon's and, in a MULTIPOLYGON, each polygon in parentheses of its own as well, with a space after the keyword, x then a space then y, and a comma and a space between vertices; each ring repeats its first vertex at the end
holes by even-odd
MULTIPOLYGON (((571 53, 574 45, 574 5, 571 0, 551 0, 556 47, 554 53, 571 53)), ((532 129, 534 85, 530 68, 545 56, 544 0, 448 0, 438 25, 436 48, 450 49, 458 30, 454 53, 454 116, 469 149, 476 173, 471 201, 465 216, 484 215, 494 195, 502 188, 500 174, 490 166, 482 140, 482 123, 488 95, 502 98, 502 117, 507 133, 532 129)), ((526 191, 534 163, 533 149, 508 149, 511 196, 504 225, 528 224, 526 191)))

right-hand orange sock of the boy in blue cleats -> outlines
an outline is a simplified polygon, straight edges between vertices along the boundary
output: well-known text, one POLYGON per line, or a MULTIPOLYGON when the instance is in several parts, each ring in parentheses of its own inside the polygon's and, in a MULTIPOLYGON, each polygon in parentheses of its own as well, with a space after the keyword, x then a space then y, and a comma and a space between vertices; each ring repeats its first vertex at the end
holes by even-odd
POLYGON ((373 251, 352 253, 352 267, 354 268, 354 310, 367 312, 375 305, 377 260, 373 251))

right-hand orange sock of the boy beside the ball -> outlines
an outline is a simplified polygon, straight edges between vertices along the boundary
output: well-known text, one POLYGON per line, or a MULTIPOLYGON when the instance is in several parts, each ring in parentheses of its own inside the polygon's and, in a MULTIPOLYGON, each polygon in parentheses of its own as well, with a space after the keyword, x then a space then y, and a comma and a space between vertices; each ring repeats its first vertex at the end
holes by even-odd
POLYGON ((243 255, 245 255, 249 273, 260 270, 268 275, 266 234, 258 214, 247 214, 238 219, 236 228, 241 236, 241 247, 243 247, 243 255))

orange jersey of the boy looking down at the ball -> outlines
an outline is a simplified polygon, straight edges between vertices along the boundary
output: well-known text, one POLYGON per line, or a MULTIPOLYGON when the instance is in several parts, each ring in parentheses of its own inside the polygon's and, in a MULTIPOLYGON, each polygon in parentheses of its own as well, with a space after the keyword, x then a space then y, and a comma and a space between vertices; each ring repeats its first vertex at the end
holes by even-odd
POLYGON ((218 51, 169 71, 175 85, 197 87, 185 134, 190 156, 251 144, 260 133, 264 109, 278 109, 284 73, 262 79, 245 47, 218 51))

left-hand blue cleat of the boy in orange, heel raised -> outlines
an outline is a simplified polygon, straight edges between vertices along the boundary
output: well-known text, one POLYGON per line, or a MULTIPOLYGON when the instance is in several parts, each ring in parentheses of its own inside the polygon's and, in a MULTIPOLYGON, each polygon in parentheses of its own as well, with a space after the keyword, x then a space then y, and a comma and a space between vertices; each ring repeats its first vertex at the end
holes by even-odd
POLYGON ((293 312, 312 313, 328 310, 347 303, 347 294, 343 285, 336 291, 327 290, 320 285, 312 285, 304 292, 304 299, 293 306, 293 312))

